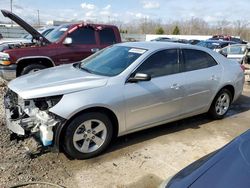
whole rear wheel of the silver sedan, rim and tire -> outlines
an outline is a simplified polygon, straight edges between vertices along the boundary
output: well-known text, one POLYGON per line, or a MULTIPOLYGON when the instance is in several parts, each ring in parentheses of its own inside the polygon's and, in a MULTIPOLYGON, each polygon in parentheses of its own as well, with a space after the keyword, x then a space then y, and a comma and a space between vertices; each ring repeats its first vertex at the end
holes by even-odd
POLYGON ((214 98, 209 109, 209 114, 213 119, 222 119, 229 110, 232 102, 232 94, 227 89, 222 89, 214 98))

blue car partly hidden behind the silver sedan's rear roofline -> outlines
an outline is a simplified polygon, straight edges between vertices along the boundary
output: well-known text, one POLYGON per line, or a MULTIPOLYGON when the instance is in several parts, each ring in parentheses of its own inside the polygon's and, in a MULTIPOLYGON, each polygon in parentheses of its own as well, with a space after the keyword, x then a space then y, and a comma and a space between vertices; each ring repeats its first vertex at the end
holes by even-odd
POLYGON ((232 44, 237 44, 237 43, 233 41, 204 40, 198 42, 196 45, 209 48, 211 50, 218 52, 220 49, 232 44))

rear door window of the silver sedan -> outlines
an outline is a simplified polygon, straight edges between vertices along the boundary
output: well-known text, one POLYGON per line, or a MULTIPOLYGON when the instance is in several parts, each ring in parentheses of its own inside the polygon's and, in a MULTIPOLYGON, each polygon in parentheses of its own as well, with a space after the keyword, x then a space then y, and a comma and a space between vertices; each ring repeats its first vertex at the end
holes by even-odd
POLYGON ((217 65, 214 58, 206 52, 192 49, 182 51, 184 55, 184 71, 193 71, 217 65))

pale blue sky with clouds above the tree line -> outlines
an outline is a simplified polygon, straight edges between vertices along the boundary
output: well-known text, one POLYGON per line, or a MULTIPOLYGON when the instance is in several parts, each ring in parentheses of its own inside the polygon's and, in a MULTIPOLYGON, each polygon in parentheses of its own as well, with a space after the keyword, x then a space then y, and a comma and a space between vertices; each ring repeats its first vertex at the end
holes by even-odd
MULTIPOLYGON (((10 0, 0 0, 0 9, 10 10, 10 0)), ((249 0, 13 0, 13 12, 30 23, 49 20, 121 20, 160 19, 162 22, 202 18, 250 20, 249 0)), ((8 21, 0 16, 0 20, 8 21)))

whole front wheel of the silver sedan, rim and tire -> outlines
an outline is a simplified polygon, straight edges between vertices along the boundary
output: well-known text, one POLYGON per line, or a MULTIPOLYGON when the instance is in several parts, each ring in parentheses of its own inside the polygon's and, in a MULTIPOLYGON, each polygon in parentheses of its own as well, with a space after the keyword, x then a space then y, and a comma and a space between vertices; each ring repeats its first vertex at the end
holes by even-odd
POLYGON ((74 159, 92 158, 107 148, 112 135, 113 126, 105 114, 85 113, 77 116, 67 126, 64 151, 74 159))

